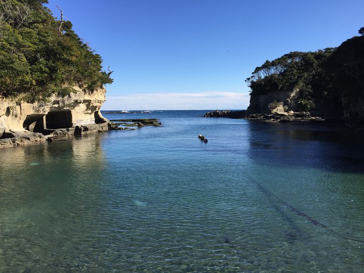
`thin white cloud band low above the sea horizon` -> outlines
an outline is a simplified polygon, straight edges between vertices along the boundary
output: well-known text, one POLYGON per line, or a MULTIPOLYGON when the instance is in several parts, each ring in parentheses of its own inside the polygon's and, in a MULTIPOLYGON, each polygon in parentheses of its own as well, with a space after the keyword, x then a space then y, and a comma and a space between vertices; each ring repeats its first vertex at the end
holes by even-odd
POLYGON ((246 109, 249 95, 237 92, 146 93, 107 96, 102 110, 246 109))

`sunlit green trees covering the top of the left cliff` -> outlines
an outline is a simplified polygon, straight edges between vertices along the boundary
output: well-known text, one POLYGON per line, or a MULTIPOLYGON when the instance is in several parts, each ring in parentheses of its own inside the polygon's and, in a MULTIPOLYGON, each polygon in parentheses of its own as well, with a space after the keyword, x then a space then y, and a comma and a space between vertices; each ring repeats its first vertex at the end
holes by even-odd
POLYGON ((78 86, 93 91, 111 83, 95 54, 44 7, 47 0, 0 2, 0 96, 33 102, 67 95, 78 86))

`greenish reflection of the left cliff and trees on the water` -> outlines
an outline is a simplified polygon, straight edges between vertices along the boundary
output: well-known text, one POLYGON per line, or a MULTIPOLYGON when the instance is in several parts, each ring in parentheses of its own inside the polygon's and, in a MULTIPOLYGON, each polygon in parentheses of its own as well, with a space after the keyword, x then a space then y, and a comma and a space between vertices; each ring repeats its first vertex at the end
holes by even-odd
POLYGON ((101 138, 0 153, 8 158, 0 161, 0 271, 29 270, 35 264, 39 271, 67 271, 75 268, 77 257, 97 253, 86 249, 108 226, 101 138), (90 224, 95 237, 87 233, 90 224))

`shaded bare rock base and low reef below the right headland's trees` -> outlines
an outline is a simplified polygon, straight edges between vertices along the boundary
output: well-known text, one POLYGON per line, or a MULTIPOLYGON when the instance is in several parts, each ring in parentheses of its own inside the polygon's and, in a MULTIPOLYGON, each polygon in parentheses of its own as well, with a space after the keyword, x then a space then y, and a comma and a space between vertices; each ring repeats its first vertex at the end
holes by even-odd
POLYGON ((272 92, 266 95, 251 96, 247 110, 215 110, 207 112, 204 117, 226 117, 255 119, 265 122, 299 122, 326 123, 331 126, 347 126, 349 128, 364 127, 364 99, 342 97, 342 108, 332 110, 332 106, 319 106, 310 111, 299 111, 297 94, 292 92, 272 92), (331 108, 331 111, 330 111, 331 108), (343 111, 341 111, 343 109, 343 111))

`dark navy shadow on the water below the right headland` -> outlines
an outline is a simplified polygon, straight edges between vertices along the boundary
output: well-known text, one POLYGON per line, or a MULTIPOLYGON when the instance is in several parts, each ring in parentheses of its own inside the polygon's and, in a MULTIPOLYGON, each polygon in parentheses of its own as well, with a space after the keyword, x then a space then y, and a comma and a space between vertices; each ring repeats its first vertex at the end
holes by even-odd
POLYGON ((248 156, 260 165, 364 173, 362 132, 248 122, 248 156))

